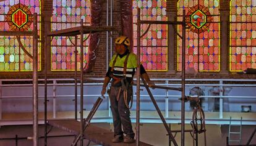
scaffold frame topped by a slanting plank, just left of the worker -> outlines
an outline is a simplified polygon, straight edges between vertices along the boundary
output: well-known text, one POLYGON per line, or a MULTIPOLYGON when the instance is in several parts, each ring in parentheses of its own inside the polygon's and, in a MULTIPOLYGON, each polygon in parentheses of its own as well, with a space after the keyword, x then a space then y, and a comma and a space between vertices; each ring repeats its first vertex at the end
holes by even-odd
MULTIPOLYGON (((92 34, 98 33, 102 31, 118 31, 115 26, 84 26, 83 20, 80 21, 80 26, 74 28, 67 28, 64 30, 58 31, 51 31, 46 33, 45 35, 45 60, 47 60, 46 55, 46 44, 47 37, 54 37, 54 36, 74 36, 75 43, 72 43, 75 46, 75 120, 77 120, 77 36, 80 35, 80 145, 83 145, 83 132, 85 131, 85 124, 83 120, 83 41, 84 36, 83 34, 92 34)), ((88 39, 88 37, 87 37, 88 39)), ((86 39, 85 39, 86 40, 86 39)), ((45 145, 47 145, 47 70, 45 68, 45 145)), ((96 112, 96 111, 95 111, 96 112)))

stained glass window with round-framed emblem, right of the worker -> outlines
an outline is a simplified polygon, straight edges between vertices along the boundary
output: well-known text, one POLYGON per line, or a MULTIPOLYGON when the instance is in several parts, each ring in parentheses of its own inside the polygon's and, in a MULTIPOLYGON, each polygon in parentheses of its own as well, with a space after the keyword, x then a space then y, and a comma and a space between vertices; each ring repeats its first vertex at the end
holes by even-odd
MULTIPOLYGON (((219 1, 179 0, 178 21, 186 10, 186 68, 197 71, 220 71, 220 16, 219 1)), ((182 26, 177 28, 182 35, 182 26)), ((177 70, 182 66, 182 39, 177 38, 177 70)))

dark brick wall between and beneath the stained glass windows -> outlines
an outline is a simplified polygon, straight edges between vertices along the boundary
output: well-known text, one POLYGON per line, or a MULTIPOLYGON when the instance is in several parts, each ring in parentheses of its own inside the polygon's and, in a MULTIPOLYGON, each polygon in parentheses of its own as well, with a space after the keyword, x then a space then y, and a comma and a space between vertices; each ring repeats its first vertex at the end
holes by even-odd
MULTIPOLYGON (((114 0, 113 1, 113 25, 117 26, 117 24, 120 24, 120 7, 119 7, 119 1, 121 0, 114 0)), ((106 25, 106 0, 103 1, 103 12, 101 15, 101 24, 106 25)), ((176 12, 177 10, 177 4, 176 0, 171 0, 167 1, 168 2, 168 11, 169 12, 176 12)), ((228 0, 223 0, 220 2, 221 10, 226 10, 227 8, 229 9, 229 1, 228 0)), ((42 52, 42 57, 41 57, 41 68, 42 71, 38 73, 39 78, 44 78, 44 73, 43 71, 45 70, 45 65, 44 65, 44 38, 43 36, 45 35, 45 20, 48 17, 49 14, 51 14, 52 10, 52 2, 51 0, 45 0, 42 1, 42 24, 41 24, 41 52, 42 52)), ((110 25, 110 1, 109 1, 109 25, 110 25)), ((116 38, 118 36, 117 32, 113 33, 113 38, 116 38)), ((109 33, 110 37, 110 33, 109 33)), ((176 38, 176 37, 174 37, 176 38)), ((109 39, 110 40, 110 39, 109 39)), ((114 42, 114 39, 113 39, 114 42)), ((176 46, 177 41, 174 41, 174 46, 176 46)), ((110 50, 110 42, 109 42, 109 50, 110 50)), ((175 49, 176 50, 176 49, 175 49)), ((48 51, 50 51, 48 49, 48 51)), ((177 62, 177 57, 176 57, 176 51, 174 51, 174 69, 177 68, 176 62, 177 62)), ((110 52, 108 52, 110 54, 110 52)), ((49 55, 49 53, 48 53, 49 55)), ((48 56, 48 59, 50 57, 48 56)), ((108 59, 110 59, 110 56, 108 56, 108 59)), ((228 60, 224 60, 228 61, 228 60)), ((49 69, 50 64, 48 63, 48 78, 74 78, 74 71, 50 71, 49 69)), ((228 70, 228 69, 227 69, 228 70)), ((93 68, 92 73, 88 73, 85 75, 85 78, 103 78, 106 73, 106 32, 100 33, 100 47, 98 49, 98 57, 95 62, 95 67, 93 68)), ((80 73, 78 73, 79 76, 80 73)), ((181 73, 173 73, 170 71, 167 72, 148 72, 151 78, 181 78, 181 73)), ((0 78, 1 79, 19 79, 19 78, 32 78, 32 72, 0 72, 0 78)), ((218 72, 203 72, 203 73, 197 73, 197 75, 187 75, 186 78, 234 78, 234 79, 256 79, 256 75, 237 75, 237 73, 228 73, 228 74, 221 74, 218 72)))

